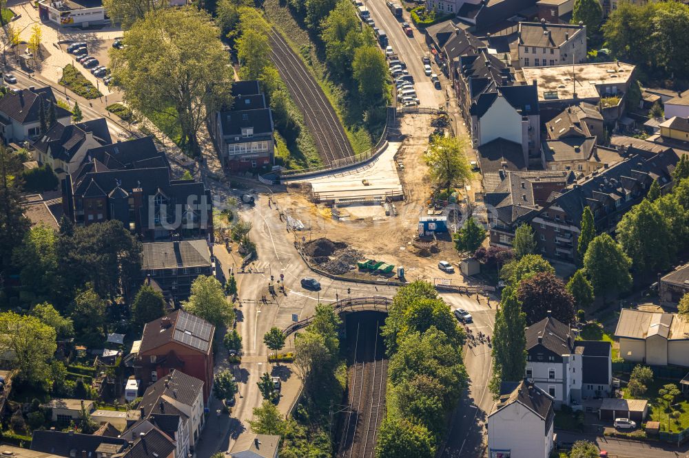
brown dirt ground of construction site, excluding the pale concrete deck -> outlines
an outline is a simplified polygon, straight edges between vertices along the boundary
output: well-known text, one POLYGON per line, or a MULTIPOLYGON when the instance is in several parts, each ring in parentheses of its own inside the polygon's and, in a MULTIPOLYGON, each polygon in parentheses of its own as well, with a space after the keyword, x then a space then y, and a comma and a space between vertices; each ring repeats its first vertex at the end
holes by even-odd
MULTIPOLYGON (((428 147, 433 115, 407 114, 400 118, 401 144, 394 157, 389 158, 399 175, 404 189, 404 201, 395 201, 394 211, 386 215, 382 206, 376 204, 337 206, 314 204, 311 185, 294 183, 287 186, 287 193, 276 194, 280 209, 293 219, 298 219, 305 230, 295 231, 295 240, 302 241, 304 254, 314 266, 331 274, 383 278, 362 271, 357 261, 374 259, 389 265, 403 266, 407 281, 435 278, 451 278, 453 284, 462 283, 462 274, 456 268, 460 256, 448 232, 438 235, 430 248, 420 248, 413 243, 418 235, 419 217, 429 211, 431 183, 424 163, 428 147), (403 166, 400 167, 399 161, 403 166), (327 239, 329 243, 313 243, 327 239), (309 242, 311 242, 309 244, 309 242), (455 265, 455 273, 447 274, 438 269, 438 261, 449 261, 455 265), (347 273, 349 272, 349 273, 347 273)), ((382 157, 382 156, 381 156, 382 157)), ((380 164, 385 170, 391 164, 380 164)), ((376 167, 369 168, 371 174, 376 167)), ((364 171, 354 172, 357 175, 364 171)), ((375 176, 372 176, 375 179, 375 176)), ((395 274, 392 272, 392 276, 395 274)))

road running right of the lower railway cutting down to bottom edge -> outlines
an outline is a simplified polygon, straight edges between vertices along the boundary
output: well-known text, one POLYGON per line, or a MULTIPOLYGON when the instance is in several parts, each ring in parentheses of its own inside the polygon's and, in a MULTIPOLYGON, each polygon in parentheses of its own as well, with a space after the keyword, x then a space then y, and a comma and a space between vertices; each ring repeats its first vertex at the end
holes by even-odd
MULTIPOLYGON (((477 302, 476 296, 462 294, 441 294, 442 298, 454 310, 459 307, 469 312, 473 323, 469 328, 476 336, 479 332, 493 335, 495 325, 495 307, 497 301, 491 299, 487 305, 484 298, 477 302)), ((475 347, 464 346, 464 365, 469 373, 469 390, 462 397, 450 420, 448 439, 440 447, 438 456, 450 457, 482 457, 485 422, 493 407, 493 396, 488 390, 491 380, 492 358, 491 348, 484 344, 475 347)))

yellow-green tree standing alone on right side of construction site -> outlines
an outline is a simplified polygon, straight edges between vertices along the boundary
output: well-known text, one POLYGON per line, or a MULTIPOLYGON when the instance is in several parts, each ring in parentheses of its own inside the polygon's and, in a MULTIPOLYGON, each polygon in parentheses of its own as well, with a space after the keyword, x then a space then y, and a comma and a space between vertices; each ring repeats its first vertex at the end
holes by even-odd
POLYGON ((438 187, 446 188, 448 194, 454 182, 469 181, 473 176, 471 165, 464 155, 465 150, 466 140, 463 137, 434 135, 424 156, 431 180, 438 187))

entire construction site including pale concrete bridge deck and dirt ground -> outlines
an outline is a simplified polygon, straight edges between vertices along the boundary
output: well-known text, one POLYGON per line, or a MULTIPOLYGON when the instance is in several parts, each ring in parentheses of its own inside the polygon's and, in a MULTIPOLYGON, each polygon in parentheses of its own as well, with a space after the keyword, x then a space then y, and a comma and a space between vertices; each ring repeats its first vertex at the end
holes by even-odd
MULTIPOLYGON (((481 215, 474 183, 450 201, 432 202, 424 154, 438 133, 436 114, 398 117, 387 148, 368 164, 338 173, 290 179, 276 195, 305 260, 332 275, 408 280, 447 274, 438 261, 457 265, 452 233, 468 213, 481 215)), ((479 196, 480 197, 480 196, 479 196)), ((455 276, 455 279, 457 276, 455 276)))

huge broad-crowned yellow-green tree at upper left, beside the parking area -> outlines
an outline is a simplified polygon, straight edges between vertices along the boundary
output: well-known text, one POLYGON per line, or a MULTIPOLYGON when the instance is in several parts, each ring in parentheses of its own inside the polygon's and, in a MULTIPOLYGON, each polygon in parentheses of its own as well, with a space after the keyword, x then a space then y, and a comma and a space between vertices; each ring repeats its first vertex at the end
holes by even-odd
POLYGON ((179 146, 200 154, 197 133, 207 113, 225 105, 232 84, 228 53, 206 12, 189 6, 146 14, 110 50, 112 74, 127 104, 172 118, 179 146))

